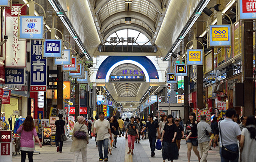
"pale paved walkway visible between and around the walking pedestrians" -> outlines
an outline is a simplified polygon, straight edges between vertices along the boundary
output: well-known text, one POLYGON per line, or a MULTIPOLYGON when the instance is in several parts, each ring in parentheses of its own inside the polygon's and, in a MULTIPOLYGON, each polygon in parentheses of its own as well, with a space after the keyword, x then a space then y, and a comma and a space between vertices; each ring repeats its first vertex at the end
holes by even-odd
MULTIPOLYGON (((34 162, 73 162, 74 154, 70 152, 70 147, 72 144, 72 139, 68 139, 64 142, 64 147, 62 153, 56 152, 55 145, 43 146, 40 148, 36 145, 35 149, 40 151, 40 154, 34 154, 34 162)), ((220 162, 219 148, 212 148, 209 150, 207 162, 220 162)), ((200 152, 200 148, 198 147, 200 152)), ((143 139, 140 144, 134 146, 134 155, 127 154, 128 152, 128 142, 124 137, 117 137, 117 148, 112 150, 112 155, 109 156, 109 162, 163 162, 162 152, 159 150, 155 151, 155 157, 150 157, 151 151, 149 147, 148 139, 143 139)), ((179 159, 174 160, 174 162, 187 162, 187 145, 185 140, 181 140, 181 149, 179 151, 179 159)), ((13 156, 13 162, 20 162, 21 155, 17 154, 13 156)), ((28 158, 26 159, 28 162, 28 158)), ((99 154, 98 149, 95 144, 95 139, 90 139, 87 149, 87 162, 98 162, 99 154)), ((195 153, 192 151, 191 162, 198 162, 195 153)), ((78 162, 82 162, 82 155, 80 154, 78 162)), ((167 160, 166 160, 167 162, 167 160)))

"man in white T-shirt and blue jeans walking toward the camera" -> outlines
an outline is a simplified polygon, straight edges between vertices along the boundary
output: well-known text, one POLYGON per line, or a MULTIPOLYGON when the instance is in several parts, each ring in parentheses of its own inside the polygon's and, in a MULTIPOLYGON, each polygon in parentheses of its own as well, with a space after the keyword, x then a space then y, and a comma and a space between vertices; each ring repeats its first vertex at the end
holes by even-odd
POLYGON ((95 121, 93 125, 93 134, 95 135, 97 132, 97 145, 99 151, 99 161, 108 161, 108 142, 109 138, 112 140, 112 136, 109 137, 111 134, 110 124, 109 121, 104 119, 104 112, 99 112, 99 119, 95 121), (102 145, 104 148, 104 158, 102 153, 102 145))

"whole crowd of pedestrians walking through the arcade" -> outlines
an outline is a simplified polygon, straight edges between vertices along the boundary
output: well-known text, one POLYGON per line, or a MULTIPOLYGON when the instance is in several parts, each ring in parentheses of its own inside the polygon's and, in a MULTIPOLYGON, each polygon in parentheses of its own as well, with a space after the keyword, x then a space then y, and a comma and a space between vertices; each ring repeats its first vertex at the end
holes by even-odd
MULTIPOLYGON (((189 120, 185 127, 181 118, 173 118, 172 115, 161 115, 157 119, 150 114, 148 121, 143 118, 131 117, 125 120, 115 116, 105 118, 104 112, 99 112, 93 121, 91 117, 86 120, 83 116, 77 117, 74 124, 71 152, 74 152, 74 162, 77 162, 79 154, 82 154, 83 162, 87 159, 87 144, 89 139, 95 137, 96 147, 99 151, 99 161, 108 161, 108 155, 112 155, 113 148, 117 148, 117 137, 124 136, 128 140, 129 151, 127 154, 134 154, 134 143, 140 143, 142 139, 149 139, 151 157, 155 156, 156 142, 162 142, 163 162, 167 159, 179 159, 179 149, 181 139, 185 139, 187 144, 187 159, 190 162, 191 151, 195 153, 199 162, 207 162, 208 150, 211 147, 219 146, 221 162, 256 162, 256 117, 241 116, 235 109, 229 108, 225 113, 225 118, 214 116, 207 123, 207 116, 200 115, 197 121, 195 113, 189 113, 189 120), (146 132, 148 134, 146 136, 146 132), (159 141, 157 141, 157 139, 159 141), (218 145, 219 141, 219 145, 218 145), (200 152, 197 147, 200 147, 200 152)), ((62 152, 65 121, 62 114, 59 120, 54 123, 56 128, 56 151, 62 152)), ((32 136, 39 143, 32 116, 27 116, 24 123, 17 130, 21 134, 21 162, 25 162, 28 154, 29 162, 32 162, 34 142, 32 136)))

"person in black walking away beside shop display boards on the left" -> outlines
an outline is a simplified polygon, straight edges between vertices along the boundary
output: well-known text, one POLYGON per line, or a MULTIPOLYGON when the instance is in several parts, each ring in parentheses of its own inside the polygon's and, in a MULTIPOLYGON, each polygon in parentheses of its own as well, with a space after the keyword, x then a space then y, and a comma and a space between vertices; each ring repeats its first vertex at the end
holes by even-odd
POLYGON ((55 121, 53 128, 56 128, 56 133, 55 133, 55 145, 57 147, 57 152, 62 152, 62 147, 63 147, 63 141, 61 141, 61 134, 64 134, 64 126, 65 126, 65 121, 62 120, 63 115, 59 114, 59 120, 55 121))

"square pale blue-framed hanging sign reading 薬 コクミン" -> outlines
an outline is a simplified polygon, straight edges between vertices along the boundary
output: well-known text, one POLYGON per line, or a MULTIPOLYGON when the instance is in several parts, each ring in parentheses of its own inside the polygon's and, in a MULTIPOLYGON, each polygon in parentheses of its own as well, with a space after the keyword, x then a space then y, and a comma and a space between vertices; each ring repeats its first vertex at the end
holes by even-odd
POLYGON ((43 16, 20 16, 20 39, 43 39, 43 16))

